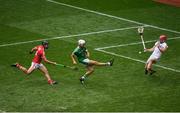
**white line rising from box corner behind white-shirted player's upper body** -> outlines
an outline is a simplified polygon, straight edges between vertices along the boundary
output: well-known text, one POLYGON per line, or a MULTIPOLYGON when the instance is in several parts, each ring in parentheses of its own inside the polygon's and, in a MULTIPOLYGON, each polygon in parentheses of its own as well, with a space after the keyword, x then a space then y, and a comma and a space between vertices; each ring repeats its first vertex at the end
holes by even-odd
MULTIPOLYGON (((180 37, 168 38, 168 40, 176 40, 176 39, 180 39, 180 37)), ((156 42, 156 41, 157 40, 149 40, 149 41, 145 41, 145 43, 151 43, 151 42, 156 42)), ((139 44, 142 44, 142 42, 133 42, 133 43, 128 43, 128 44, 99 47, 99 48, 95 48, 95 50, 102 50, 102 49, 109 49, 109 48, 116 48, 116 47, 125 47, 125 46, 139 45, 139 44)))

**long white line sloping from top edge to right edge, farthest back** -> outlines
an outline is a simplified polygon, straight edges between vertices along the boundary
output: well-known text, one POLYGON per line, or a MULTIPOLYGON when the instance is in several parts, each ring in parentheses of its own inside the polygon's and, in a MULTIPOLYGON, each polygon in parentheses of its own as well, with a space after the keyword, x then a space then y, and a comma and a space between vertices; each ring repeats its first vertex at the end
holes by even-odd
POLYGON ((62 5, 62 6, 71 7, 71 8, 74 8, 74 9, 79 9, 79 10, 82 10, 82 11, 94 13, 94 14, 101 15, 101 16, 106 16, 106 17, 110 17, 110 18, 114 18, 114 19, 118 19, 118 20, 123 20, 123 21, 126 21, 126 22, 131 22, 131 23, 139 24, 139 25, 147 25, 147 26, 152 27, 152 28, 156 28, 156 29, 160 29, 160 30, 180 34, 179 31, 166 29, 166 28, 162 28, 162 27, 158 27, 158 26, 154 26, 154 25, 150 25, 150 24, 145 24, 145 23, 137 22, 137 21, 134 21, 134 20, 126 19, 126 18, 113 16, 113 15, 110 15, 110 14, 105 14, 105 13, 101 13, 101 12, 98 12, 98 11, 93 11, 93 10, 89 10, 89 9, 85 9, 85 8, 81 8, 81 7, 77 7, 77 6, 73 6, 73 5, 69 5, 69 4, 65 4, 65 3, 62 3, 62 2, 57 2, 57 1, 54 1, 54 0, 46 0, 46 1, 54 3, 54 4, 59 4, 59 5, 62 5))

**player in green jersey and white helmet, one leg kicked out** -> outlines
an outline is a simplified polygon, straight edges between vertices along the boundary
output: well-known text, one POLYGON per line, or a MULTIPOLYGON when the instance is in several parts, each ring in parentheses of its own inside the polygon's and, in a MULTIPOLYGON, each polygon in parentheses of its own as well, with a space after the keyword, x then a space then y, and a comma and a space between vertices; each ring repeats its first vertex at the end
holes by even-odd
POLYGON ((77 64, 75 57, 79 61, 79 63, 86 65, 87 71, 86 73, 80 78, 80 82, 83 84, 84 80, 93 73, 94 66, 112 66, 114 59, 111 59, 109 62, 102 63, 95 60, 89 59, 89 52, 85 47, 85 40, 79 40, 78 41, 78 47, 72 52, 71 58, 73 61, 73 64, 77 64))

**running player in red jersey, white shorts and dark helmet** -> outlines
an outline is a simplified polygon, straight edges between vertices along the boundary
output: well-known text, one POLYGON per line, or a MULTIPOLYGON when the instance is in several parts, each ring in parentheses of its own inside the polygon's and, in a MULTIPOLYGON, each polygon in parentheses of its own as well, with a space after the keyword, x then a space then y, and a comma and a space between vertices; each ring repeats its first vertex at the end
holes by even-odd
POLYGON ((39 69, 40 71, 42 71, 44 73, 44 75, 45 75, 45 77, 46 77, 46 79, 50 85, 56 84, 57 82, 53 81, 51 79, 47 68, 41 63, 41 61, 43 60, 46 63, 56 65, 56 62, 52 62, 52 61, 49 61, 46 59, 45 49, 48 49, 48 42, 47 41, 43 41, 42 45, 38 45, 38 46, 32 48, 32 50, 30 51, 30 54, 32 54, 34 51, 36 51, 36 53, 35 53, 35 56, 32 60, 31 67, 29 69, 26 69, 25 67, 23 67, 19 63, 15 63, 11 66, 17 67, 18 69, 22 70, 27 75, 31 74, 35 69, 39 69))

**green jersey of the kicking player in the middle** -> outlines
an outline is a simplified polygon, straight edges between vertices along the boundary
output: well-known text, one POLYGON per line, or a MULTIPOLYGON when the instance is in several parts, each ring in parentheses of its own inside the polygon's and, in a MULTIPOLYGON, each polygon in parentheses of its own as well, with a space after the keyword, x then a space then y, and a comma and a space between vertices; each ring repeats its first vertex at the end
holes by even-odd
POLYGON ((76 55, 77 59, 79 62, 82 62, 84 59, 87 58, 87 49, 85 47, 77 47, 74 51, 73 54, 76 55))

